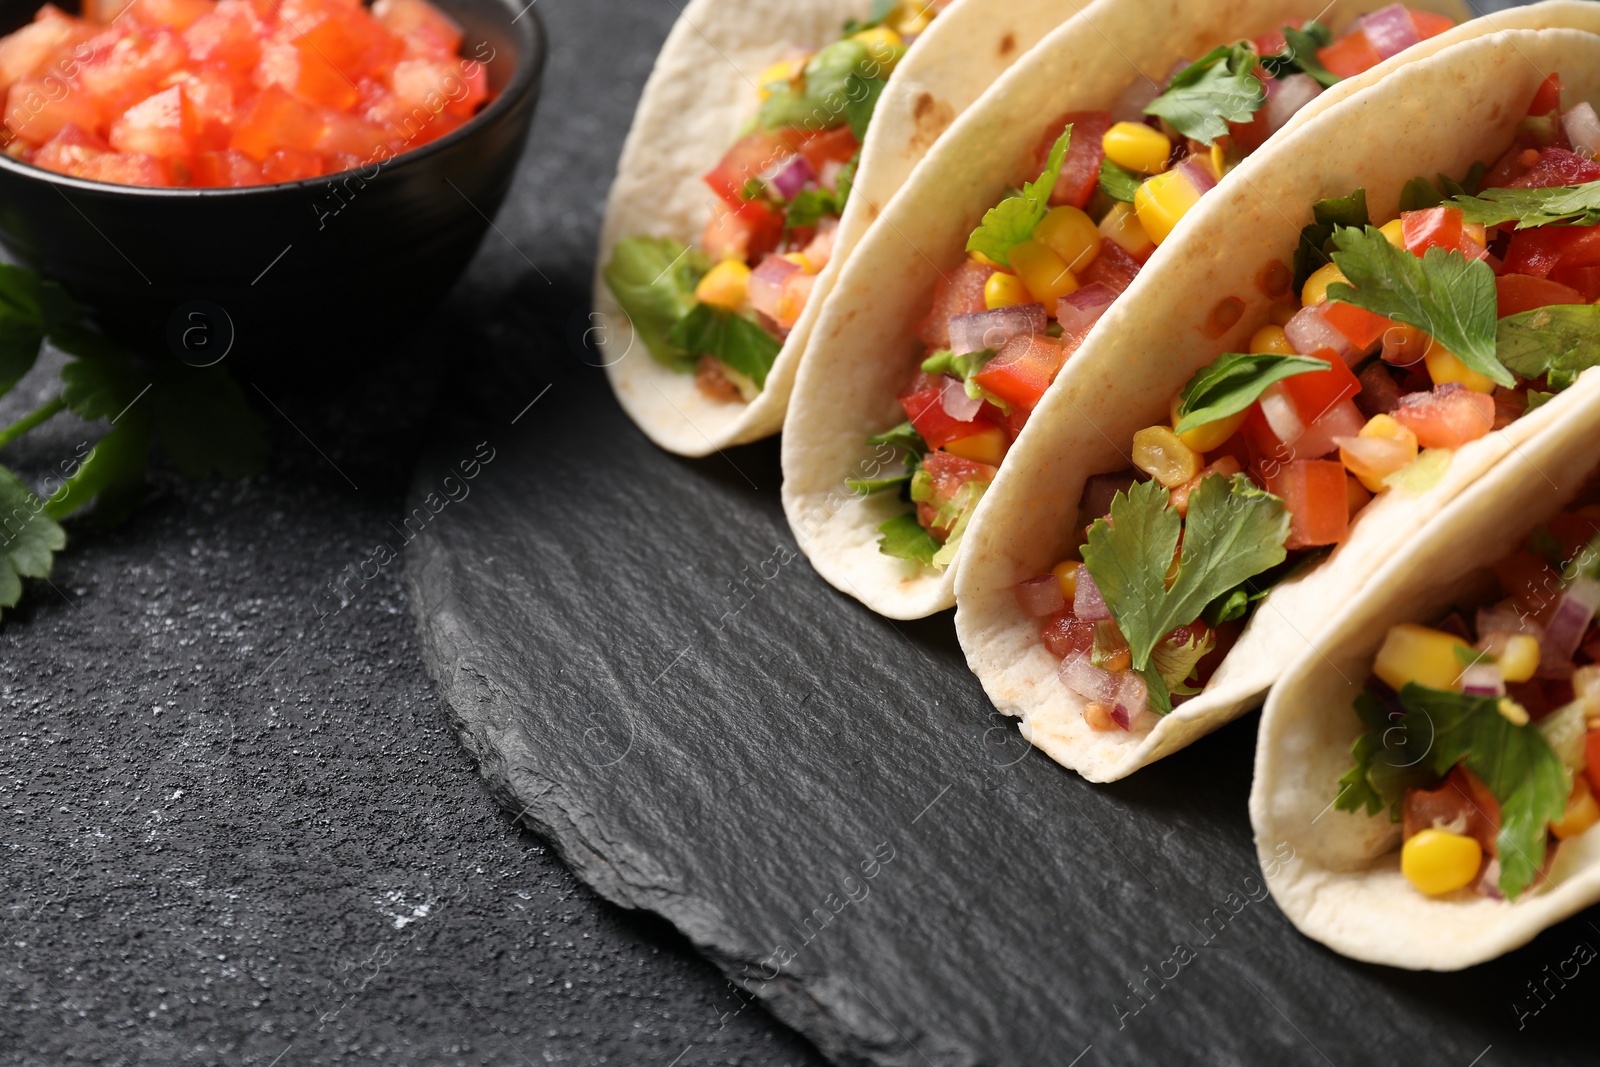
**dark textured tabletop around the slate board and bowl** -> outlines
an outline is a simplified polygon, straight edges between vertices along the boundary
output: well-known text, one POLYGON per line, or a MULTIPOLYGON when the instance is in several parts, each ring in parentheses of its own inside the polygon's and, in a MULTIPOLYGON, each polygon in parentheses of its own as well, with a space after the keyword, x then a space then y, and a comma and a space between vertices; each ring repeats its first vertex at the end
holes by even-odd
MULTIPOLYGON (((821 1062, 512 825, 422 672, 402 565, 330 611, 344 568, 400 544, 445 370, 515 358, 518 317, 586 299, 677 11, 539 13, 552 62, 504 237, 422 336, 338 389, 246 386, 269 474, 160 477, 122 528, 72 528, 6 613, 0 1064, 821 1062)), ((3 461, 43 472, 96 432, 58 418, 3 461)))

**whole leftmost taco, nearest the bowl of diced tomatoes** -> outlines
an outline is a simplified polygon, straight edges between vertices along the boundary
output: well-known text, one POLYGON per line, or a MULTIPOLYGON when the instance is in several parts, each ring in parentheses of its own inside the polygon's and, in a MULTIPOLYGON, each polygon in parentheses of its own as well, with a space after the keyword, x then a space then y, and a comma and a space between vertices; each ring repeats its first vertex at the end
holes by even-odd
POLYGON ((778 432, 838 264, 955 115, 1077 6, 690 3, 622 149, 594 286, 589 336, 640 429, 691 456, 778 432))

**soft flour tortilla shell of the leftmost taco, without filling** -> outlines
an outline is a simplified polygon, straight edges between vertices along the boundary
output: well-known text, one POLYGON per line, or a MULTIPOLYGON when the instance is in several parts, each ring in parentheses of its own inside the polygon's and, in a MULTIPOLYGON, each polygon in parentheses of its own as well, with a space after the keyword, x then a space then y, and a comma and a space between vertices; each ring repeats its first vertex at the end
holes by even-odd
POLYGON ((958 0, 896 66, 862 146, 834 259, 818 278, 766 389, 749 405, 706 398, 634 336, 600 270, 624 237, 698 245, 715 195, 701 181, 760 107, 757 78, 795 45, 822 46, 870 0, 694 0, 645 83, 606 202, 595 264, 600 355, 629 416, 669 451, 704 456, 776 434, 795 365, 850 250, 955 117, 1008 66, 1082 6, 1075 0, 958 0))

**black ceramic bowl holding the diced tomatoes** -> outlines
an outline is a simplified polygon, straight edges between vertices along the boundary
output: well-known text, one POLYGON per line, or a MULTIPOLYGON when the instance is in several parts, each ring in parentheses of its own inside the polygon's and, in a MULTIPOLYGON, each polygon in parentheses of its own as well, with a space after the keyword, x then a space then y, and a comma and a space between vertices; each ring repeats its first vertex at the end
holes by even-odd
MULTIPOLYGON (((102 326, 189 362, 357 358, 450 290, 510 187, 544 70, 526 0, 435 0, 494 99, 459 130, 366 171, 248 189, 144 189, 0 155, 0 243, 102 326)), ((43 0, 0 0, 0 32, 43 0)), ((72 6, 77 5, 62 5, 72 6)))

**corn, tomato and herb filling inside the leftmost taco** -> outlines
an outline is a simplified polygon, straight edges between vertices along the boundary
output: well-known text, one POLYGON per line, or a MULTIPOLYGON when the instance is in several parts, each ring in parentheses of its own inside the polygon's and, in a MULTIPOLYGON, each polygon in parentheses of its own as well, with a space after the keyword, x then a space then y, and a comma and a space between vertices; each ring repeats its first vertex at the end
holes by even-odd
POLYGON ((712 218, 688 248, 626 237, 605 280, 650 354, 714 400, 749 402, 834 254, 861 142, 894 66, 950 0, 874 5, 840 40, 757 78, 762 106, 706 174, 712 218))

